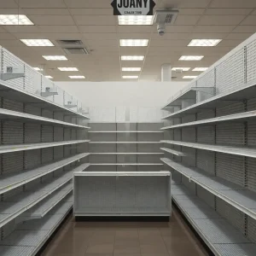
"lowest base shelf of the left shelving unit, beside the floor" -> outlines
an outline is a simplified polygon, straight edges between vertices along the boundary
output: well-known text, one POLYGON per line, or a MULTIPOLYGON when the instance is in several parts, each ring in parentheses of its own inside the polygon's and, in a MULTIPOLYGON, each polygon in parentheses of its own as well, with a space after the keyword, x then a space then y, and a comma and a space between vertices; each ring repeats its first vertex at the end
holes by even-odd
POLYGON ((61 202, 52 215, 44 218, 30 220, 17 226, 17 230, 12 232, 0 242, 1 256, 33 256, 54 233, 63 219, 70 211, 72 203, 61 202), (61 209, 61 211, 58 211, 61 209))

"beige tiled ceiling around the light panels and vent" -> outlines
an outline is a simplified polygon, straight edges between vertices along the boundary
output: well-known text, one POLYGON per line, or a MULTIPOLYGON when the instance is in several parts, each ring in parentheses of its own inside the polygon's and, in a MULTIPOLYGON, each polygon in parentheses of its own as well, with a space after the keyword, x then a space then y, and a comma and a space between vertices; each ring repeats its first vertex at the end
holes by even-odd
MULTIPOLYGON (((160 66, 210 67, 256 32, 256 0, 154 0, 155 9, 179 9, 174 26, 160 37, 156 26, 118 26, 112 0, 0 0, 0 15, 24 14, 35 26, 0 26, 0 45, 32 67, 45 65, 54 80, 84 75, 90 81, 120 81, 122 75, 159 80, 160 66), (55 47, 27 47, 20 39, 50 39, 55 47), (148 47, 121 47, 119 39, 149 39, 148 47), (187 47, 193 38, 216 38, 216 47, 187 47), (59 39, 80 39, 90 55, 67 55, 68 61, 45 61, 42 55, 65 55, 59 39), (120 55, 145 55, 144 61, 119 61, 120 55), (178 61, 181 55, 204 55, 202 61, 178 61), (57 67, 78 67, 61 72, 57 67), (121 67, 142 67, 141 73, 121 67)), ((192 68, 191 68, 192 69, 192 68)), ((198 72, 173 73, 175 80, 198 72)))

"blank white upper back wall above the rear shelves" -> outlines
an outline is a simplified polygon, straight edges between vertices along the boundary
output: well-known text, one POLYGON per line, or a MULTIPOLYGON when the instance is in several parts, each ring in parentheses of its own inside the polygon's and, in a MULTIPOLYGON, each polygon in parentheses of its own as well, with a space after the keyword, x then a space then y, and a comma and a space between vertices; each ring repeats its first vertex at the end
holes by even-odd
POLYGON ((86 107, 160 108, 188 82, 55 82, 86 107))

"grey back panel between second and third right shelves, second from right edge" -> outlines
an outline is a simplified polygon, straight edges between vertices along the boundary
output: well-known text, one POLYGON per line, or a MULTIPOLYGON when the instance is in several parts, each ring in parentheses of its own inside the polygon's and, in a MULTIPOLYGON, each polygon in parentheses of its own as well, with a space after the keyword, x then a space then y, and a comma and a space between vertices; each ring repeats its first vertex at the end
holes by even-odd
POLYGON ((216 143, 219 145, 245 145, 245 131, 242 123, 216 125, 216 143))

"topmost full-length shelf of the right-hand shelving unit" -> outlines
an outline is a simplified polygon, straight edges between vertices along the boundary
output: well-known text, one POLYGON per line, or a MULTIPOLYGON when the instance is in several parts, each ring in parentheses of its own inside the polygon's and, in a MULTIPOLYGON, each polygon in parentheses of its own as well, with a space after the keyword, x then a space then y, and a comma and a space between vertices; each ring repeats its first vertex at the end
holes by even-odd
POLYGON ((170 113, 163 117, 163 119, 179 118, 187 114, 200 113, 203 109, 216 108, 217 106, 229 105, 230 102, 240 102, 242 100, 248 100, 255 97, 255 86, 256 84, 247 84, 243 88, 231 90, 229 92, 213 96, 203 102, 198 102, 188 108, 183 108, 175 113, 170 113))

